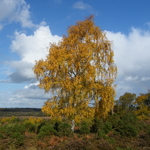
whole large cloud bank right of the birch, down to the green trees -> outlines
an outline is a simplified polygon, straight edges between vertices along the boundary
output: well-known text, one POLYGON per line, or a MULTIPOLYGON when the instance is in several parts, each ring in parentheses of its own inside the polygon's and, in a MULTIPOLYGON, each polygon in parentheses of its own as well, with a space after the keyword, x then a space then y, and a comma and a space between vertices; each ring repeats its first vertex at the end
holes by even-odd
POLYGON ((131 92, 131 89, 135 93, 147 92, 150 82, 145 84, 142 81, 149 81, 150 32, 132 28, 128 35, 121 32, 106 31, 106 33, 113 43, 114 60, 118 67, 117 94, 120 95, 119 88, 122 87, 124 92, 131 92))

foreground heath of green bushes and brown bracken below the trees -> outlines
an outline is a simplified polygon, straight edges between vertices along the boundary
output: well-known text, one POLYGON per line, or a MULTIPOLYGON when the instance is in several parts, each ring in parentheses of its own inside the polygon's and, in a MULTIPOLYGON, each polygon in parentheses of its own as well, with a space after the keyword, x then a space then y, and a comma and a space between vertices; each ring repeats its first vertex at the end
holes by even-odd
POLYGON ((74 133, 68 120, 0 119, 0 150, 148 150, 149 141, 150 121, 130 113, 82 120, 74 133))

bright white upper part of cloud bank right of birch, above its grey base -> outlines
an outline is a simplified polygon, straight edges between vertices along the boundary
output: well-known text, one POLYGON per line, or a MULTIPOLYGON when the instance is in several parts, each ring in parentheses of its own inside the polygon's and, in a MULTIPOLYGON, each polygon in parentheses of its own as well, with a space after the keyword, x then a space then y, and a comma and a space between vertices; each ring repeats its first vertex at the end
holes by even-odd
MULTIPOLYGON (((132 28, 129 35, 108 31, 107 37, 113 41, 115 51, 114 58, 118 65, 120 75, 125 73, 127 75, 128 73, 139 74, 140 70, 142 70, 142 72, 149 70, 149 31, 132 28)), ((140 74, 142 74, 142 72, 140 74)))

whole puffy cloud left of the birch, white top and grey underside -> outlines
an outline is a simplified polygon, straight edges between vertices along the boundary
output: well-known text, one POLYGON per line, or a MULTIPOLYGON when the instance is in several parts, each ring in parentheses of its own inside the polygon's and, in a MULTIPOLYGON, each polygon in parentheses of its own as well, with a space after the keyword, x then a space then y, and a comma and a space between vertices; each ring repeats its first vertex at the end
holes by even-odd
POLYGON ((15 32, 11 49, 20 56, 20 61, 10 63, 16 71, 9 75, 12 82, 31 81, 35 78, 32 68, 35 60, 45 59, 51 43, 57 43, 61 37, 52 35, 48 26, 40 26, 33 35, 15 32))

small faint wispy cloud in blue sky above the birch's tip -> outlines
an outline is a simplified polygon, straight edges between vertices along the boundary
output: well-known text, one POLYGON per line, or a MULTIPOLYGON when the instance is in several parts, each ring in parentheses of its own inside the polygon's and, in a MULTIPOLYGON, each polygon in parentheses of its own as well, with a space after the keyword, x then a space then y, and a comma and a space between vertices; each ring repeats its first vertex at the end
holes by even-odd
POLYGON ((73 8, 80 10, 88 10, 91 9, 91 6, 89 4, 83 3, 82 1, 78 1, 74 3, 73 8))

